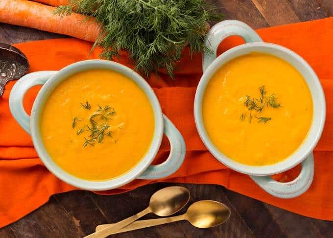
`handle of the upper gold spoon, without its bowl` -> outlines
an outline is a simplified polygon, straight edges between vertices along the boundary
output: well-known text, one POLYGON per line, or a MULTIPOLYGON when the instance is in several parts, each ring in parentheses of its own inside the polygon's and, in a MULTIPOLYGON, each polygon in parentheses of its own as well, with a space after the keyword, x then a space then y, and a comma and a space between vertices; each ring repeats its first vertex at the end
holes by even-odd
POLYGON ((144 209, 142 212, 132 215, 122 221, 119 221, 117 223, 114 223, 113 225, 109 225, 99 231, 96 231, 93 234, 90 234, 89 236, 86 236, 85 238, 104 238, 107 237, 109 235, 114 234, 115 232, 119 231, 121 228, 124 228, 125 226, 133 223, 134 221, 136 221, 137 219, 139 219, 140 217, 151 213, 151 209, 150 207, 147 207, 146 209, 144 209))

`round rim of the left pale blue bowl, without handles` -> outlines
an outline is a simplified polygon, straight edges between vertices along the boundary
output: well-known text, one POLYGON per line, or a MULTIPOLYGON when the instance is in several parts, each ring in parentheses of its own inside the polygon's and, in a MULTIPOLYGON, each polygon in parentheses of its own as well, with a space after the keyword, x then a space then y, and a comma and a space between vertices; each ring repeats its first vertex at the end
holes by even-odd
POLYGON ((120 186, 133 181, 135 178, 140 176, 140 174, 142 174, 151 164, 162 143, 162 138, 164 134, 164 120, 162 116, 162 109, 157 96, 155 95, 153 89, 149 86, 149 84, 143 79, 141 75, 139 75, 134 70, 117 62, 95 59, 79 61, 68 65, 59 70, 56 74, 54 74, 48 79, 48 81, 41 88, 33 103, 30 116, 30 128, 32 141, 38 155, 40 156, 41 160, 48 168, 48 170, 51 171, 56 177, 80 189, 110 190, 119 188, 120 186), (111 71, 117 71, 134 81, 148 97, 151 107, 153 109, 155 122, 153 138, 150 147, 144 155, 143 159, 141 159, 141 161, 135 167, 131 168, 126 173, 119 175, 115 178, 101 181, 86 180, 75 177, 74 175, 66 172, 63 168, 59 167, 48 155, 48 152, 43 145, 39 126, 44 104, 49 94, 54 90, 54 88, 56 88, 59 83, 61 83, 63 80, 66 80, 66 78, 68 78, 69 76, 80 71, 87 71, 91 69, 106 69, 111 71))

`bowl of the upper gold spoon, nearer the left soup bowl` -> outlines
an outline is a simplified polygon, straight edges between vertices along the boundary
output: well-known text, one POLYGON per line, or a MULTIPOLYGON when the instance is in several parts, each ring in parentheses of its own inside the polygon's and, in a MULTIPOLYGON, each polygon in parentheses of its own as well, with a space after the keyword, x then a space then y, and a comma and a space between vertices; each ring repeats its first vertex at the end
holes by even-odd
POLYGON ((155 192, 149 201, 151 212, 158 216, 177 213, 190 200, 190 191, 184 187, 172 186, 155 192))

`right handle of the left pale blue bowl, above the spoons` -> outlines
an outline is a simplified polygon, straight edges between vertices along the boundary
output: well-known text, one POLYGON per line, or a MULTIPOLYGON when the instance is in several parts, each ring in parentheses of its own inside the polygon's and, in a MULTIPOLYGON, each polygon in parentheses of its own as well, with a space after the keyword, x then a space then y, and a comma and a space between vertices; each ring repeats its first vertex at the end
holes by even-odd
POLYGON ((159 179, 167 177, 178 170, 183 164, 186 145, 178 129, 163 115, 164 133, 170 142, 170 154, 165 162, 159 165, 150 165, 138 178, 159 179))

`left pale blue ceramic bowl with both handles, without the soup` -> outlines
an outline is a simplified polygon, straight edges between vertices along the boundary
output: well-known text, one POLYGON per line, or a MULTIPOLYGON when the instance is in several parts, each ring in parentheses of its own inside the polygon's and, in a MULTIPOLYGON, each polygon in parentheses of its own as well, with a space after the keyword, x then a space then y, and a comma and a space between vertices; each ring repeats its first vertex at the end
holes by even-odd
MULTIPOLYGON (((9 96, 9 107, 13 117, 24 130, 32 137, 33 144, 45 166, 61 180, 77 188, 86 190, 109 190, 118 188, 134 180, 159 179, 167 177, 177 171, 182 165, 186 153, 184 139, 172 122, 162 114, 159 101, 148 83, 135 71, 116 62, 106 60, 86 60, 71 64, 60 71, 38 71, 22 77, 13 87, 9 96), (154 111, 155 131, 151 146, 144 158, 131 170, 119 177, 104 180, 90 181, 77 178, 59 167, 49 156, 40 135, 40 120, 44 104, 50 93, 59 83, 70 75, 89 69, 107 69, 117 71, 132 79, 149 98, 154 111), (35 86, 44 85, 38 93, 29 117, 23 108, 23 97, 26 91, 35 86), (150 165, 158 152, 163 134, 169 139, 171 151, 166 161, 160 165, 150 165)), ((143 128, 144 129, 144 128, 143 128)))

